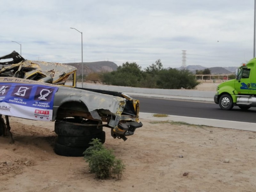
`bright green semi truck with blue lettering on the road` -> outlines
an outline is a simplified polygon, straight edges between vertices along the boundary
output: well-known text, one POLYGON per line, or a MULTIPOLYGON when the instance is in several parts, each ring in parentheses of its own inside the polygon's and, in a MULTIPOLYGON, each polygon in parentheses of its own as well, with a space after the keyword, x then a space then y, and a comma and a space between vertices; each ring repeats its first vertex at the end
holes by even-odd
POLYGON ((223 110, 256 107, 256 58, 236 69, 236 79, 219 84, 214 102, 223 110))

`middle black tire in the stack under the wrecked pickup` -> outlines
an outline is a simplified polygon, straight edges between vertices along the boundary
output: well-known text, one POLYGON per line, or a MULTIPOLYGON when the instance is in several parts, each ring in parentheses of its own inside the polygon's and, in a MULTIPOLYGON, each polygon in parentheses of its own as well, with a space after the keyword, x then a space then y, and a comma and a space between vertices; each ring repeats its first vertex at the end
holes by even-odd
POLYGON ((105 143, 105 132, 102 131, 99 134, 96 135, 89 135, 89 136, 81 136, 81 137, 68 137, 68 136, 58 136, 56 142, 61 144, 61 145, 65 145, 65 146, 69 146, 69 147, 89 147, 90 146, 90 142, 92 142, 92 139, 98 138, 100 139, 101 143, 105 143))

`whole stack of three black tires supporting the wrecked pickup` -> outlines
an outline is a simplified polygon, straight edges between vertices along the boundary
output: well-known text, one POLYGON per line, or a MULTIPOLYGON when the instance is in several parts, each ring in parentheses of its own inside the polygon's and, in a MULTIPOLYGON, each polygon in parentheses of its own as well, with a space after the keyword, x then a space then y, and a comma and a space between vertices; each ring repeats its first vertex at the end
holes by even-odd
POLYGON ((55 121, 54 131, 58 134, 54 152, 60 156, 84 156, 92 139, 105 143, 105 132, 98 121, 80 118, 65 118, 55 121))

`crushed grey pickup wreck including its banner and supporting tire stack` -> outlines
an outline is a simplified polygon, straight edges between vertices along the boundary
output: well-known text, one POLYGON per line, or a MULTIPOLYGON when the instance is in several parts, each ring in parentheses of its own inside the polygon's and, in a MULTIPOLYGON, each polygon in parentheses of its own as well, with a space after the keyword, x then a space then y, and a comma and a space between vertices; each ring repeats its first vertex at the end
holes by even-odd
POLYGON ((92 138, 105 142, 103 127, 111 129, 113 138, 126 140, 142 126, 139 100, 121 92, 77 88, 73 66, 25 60, 15 51, 0 57, 0 64, 0 135, 11 129, 8 116, 55 121, 55 153, 83 156, 92 138), (11 61, 2 61, 6 59, 11 61))

